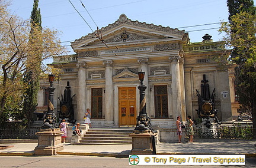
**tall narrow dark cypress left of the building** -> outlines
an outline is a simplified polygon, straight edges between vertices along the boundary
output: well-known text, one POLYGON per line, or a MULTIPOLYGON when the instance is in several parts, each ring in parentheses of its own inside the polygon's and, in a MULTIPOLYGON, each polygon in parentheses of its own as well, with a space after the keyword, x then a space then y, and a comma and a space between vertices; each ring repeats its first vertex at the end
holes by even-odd
MULTIPOLYGON (((33 10, 31 12, 30 24, 31 27, 37 28, 41 31, 41 14, 38 8, 39 0, 34 0, 33 10)), ((33 28, 30 31, 30 38, 34 38, 33 28)), ((24 94, 24 106, 23 114, 28 120, 28 127, 33 120, 33 113, 36 111, 37 106, 37 94, 39 91, 39 74, 41 73, 41 57, 42 54, 39 52, 37 55, 28 55, 27 70, 24 73, 24 82, 28 84, 27 90, 24 94), (32 57, 32 58, 29 58, 32 57)))

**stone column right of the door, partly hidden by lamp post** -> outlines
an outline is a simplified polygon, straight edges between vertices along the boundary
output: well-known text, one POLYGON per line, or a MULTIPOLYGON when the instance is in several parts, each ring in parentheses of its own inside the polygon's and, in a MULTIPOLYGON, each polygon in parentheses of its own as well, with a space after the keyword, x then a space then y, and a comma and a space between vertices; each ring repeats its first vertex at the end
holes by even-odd
MULTIPOLYGON (((146 104, 149 105, 149 104, 151 104, 150 98, 149 98, 150 88, 149 88, 149 81, 148 81, 148 76, 149 76, 148 61, 149 61, 149 59, 148 58, 140 58, 137 61, 140 64, 139 71, 145 72, 145 77, 144 77, 144 80, 143 80, 143 84, 145 84, 146 87, 148 87, 148 89, 145 90, 145 97, 146 97, 146 104)), ((138 82, 138 84, 139 84, 139 82, 138 82)), ((146 111, 148 113, 148 116, 150 117, 151 116, 151 111, 149 111, 149 106, 146 106, 146 111)))

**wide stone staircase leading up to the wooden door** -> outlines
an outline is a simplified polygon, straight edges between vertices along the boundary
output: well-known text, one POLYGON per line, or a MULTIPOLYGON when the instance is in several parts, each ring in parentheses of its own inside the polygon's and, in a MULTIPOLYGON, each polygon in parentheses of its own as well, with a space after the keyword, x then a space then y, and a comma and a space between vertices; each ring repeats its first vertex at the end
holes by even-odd
POLYGON ((116 145, 132 144, 129 134, 134 129, 89 129, 81 138, 81 145, 116 145))

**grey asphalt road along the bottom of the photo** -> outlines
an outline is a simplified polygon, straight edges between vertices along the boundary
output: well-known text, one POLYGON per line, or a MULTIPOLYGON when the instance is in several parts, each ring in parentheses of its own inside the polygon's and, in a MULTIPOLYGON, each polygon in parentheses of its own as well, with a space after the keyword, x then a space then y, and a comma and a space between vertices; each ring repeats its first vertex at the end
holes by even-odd
MULTIPOLYGON (((146 167, 255 167, 256 158, 246 158, 245 166, 146 166, 146 167)), ((132 167, 128 158, 96 156, 0 156, 0 167, 132 167)), ((134 166, 133 166, 134 167, 134 166)), ((136 166, 145 167, 145 166, 136 166)))

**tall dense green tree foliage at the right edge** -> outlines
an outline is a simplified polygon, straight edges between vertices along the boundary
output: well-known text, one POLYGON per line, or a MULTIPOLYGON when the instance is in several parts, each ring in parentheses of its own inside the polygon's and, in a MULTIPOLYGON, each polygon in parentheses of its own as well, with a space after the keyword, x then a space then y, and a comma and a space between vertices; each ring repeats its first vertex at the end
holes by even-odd
POLYGON ((256 38, 255 7, 253 1, 228 0, 229 23, 223 22, 221 32, 228 47, 232 47, 235 63, 235 90, 242 108, 252 113, 256 139, 256 38))

